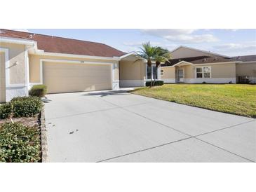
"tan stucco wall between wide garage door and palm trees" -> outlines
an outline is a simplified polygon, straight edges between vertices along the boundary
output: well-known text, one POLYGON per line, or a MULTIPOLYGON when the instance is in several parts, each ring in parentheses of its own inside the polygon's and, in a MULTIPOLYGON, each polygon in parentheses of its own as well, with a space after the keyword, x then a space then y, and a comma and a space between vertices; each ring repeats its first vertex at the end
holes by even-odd
POLYGON ((144 80, 146 78, 146 64, 142 61, 120 61, 120 80, 144 80))

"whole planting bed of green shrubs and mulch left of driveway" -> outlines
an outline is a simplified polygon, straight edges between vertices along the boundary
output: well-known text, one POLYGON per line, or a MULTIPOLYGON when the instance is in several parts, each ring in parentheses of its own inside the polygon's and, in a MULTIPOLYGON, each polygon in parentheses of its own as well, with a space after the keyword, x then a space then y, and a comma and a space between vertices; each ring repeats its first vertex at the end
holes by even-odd
POLYGON ((39 97, 16 97, 0 105, 0 162, 42 161, 42 110, 39 97))

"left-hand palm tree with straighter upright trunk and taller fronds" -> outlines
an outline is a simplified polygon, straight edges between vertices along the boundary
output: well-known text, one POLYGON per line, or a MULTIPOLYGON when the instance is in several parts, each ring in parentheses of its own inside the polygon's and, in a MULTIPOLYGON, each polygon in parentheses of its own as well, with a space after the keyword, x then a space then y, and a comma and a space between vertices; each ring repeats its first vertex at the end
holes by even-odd
MULTIPOLYGON (((140 51, 137 51, 136 56, 139 57, 138 60, 147 60, 147 66, 151 67, 152 61, 155 61, 156 47, 151 46, 150 42, 142 43, 142 47, 140 48, 140 51)), ((151 70, 150 87, 151 86, 152 86, 152 70, 151 70)))

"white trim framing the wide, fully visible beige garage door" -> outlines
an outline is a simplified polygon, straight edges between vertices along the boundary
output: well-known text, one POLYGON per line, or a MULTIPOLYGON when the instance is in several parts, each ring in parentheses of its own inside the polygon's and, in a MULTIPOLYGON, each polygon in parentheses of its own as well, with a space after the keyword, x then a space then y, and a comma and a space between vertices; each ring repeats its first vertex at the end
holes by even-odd
POLYGON ((41 59, 40 60, 40 82, 39 83, 31 83, 31 85, 43 84, 43 62, 60 62, 60 63, 76 63, 76 64, 107 64, 110 65, 111 70, 111 79, 112 79, 112 89, 119 88, 119 81, 114 81, 114 69, 117 67, 115 63, 112 62, 87 62, 87 61, 77 61, 77 60, 49 60, 49 59, 41 59))

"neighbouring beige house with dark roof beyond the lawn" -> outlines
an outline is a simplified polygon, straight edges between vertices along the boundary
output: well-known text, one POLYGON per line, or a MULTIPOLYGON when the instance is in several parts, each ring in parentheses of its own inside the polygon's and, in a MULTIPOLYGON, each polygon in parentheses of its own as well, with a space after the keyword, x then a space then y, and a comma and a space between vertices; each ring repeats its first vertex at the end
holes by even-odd
POLYGON ((228 57, 184 46, 170 53, 172 60, 161 64, 165 83, 256 83, 256 55, 228 57))

